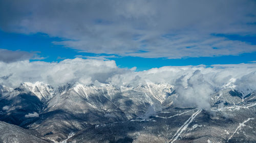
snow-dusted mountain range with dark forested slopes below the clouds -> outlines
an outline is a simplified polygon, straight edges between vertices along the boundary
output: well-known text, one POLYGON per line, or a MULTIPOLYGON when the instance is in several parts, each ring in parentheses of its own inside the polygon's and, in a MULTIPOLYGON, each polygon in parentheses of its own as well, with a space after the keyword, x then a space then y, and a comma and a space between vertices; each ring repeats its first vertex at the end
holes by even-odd
POLYGON ((256 142, 255 91, 216 91, 203 109, 179 106, 179 96, 167 83, 1 85, 0 125, 18 132, 5 131, 0 142, 13 134, 27 135, 17 142, 256 142))

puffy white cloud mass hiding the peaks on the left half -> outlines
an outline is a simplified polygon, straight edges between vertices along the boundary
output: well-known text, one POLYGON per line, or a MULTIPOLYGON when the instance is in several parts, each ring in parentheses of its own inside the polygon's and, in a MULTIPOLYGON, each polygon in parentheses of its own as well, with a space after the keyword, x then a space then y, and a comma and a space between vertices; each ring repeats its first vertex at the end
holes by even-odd
POLYGON ((91 84, 95 80, 105 82, 115 74, 125 73, 127 69, 120 69, 115 61, 63 60, 59 63, 18 61, 14 63, 0 62, 0 83, 17 86, 22 82, 42 81, 53 86, 67 82, 91 84), (9 76, 11 75, 11 76, 9 76))

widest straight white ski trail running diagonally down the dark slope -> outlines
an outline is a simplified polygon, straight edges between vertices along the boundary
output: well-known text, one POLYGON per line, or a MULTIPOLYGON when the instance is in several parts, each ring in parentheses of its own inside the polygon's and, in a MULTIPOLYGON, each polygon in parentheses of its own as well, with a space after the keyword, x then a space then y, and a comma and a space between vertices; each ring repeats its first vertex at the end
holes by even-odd
POLYGON ((186 130, 187 126, 196 118, 196 116, 201 112, 202 110, 197 110, 191 117, 188 118, 188 120, 177 130, 177 132, 175 133, 175 135, 173 136, 172 139, 169 140, 169 142, 172 140, 173 143, 175 140, 178 139, 178 137, 180 136, 180 134, 186 130))

